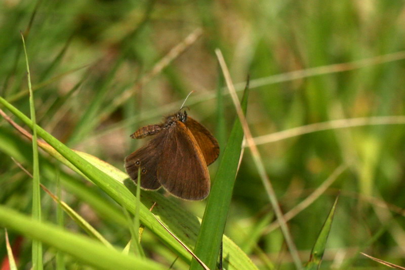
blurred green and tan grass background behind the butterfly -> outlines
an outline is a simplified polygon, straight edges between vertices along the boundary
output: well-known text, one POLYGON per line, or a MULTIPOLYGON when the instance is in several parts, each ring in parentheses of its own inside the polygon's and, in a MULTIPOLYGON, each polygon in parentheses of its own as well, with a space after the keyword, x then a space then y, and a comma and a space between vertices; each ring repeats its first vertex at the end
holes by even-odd
MULTIPOLYGON (((22 31, 37 122, 69 147, 123 169, 124 158, 144 143, 129 135, 177 111, 196 90, 186 102, 188 114, 207 126, 223 149, 236 113, 222 89, 214 53, 219 48, 237 89, 250 75, 247 118, 254 137, 272 136, 258 146, 284 212, 345 166, 289 221, 302 260, 309 258, 340 190, 322 268, 383 269, 358 252, 405 265, 404 25, 403 1, 3 0, 0 95, 29 115, 22 31), (276 133, 352 118, 363 119, 350 128, 343 121, 325 124, 335 123, 326 131, 276 133)), ((12 134, 30 151, 29 142, 3 119, 0 133, 12 134)), ((31 181, 10 156, 0 151, 0 202, 29 213, 31 181)), ((23 166, 29 170, 31 163, 23 166)), ((216 166, 210 166, 212 176, 216 166)), ((46 177, 42 181, 47 183, 46 177)), ((104 222, 74 196, 64 194, 64 200, 109 241, 125 245, 125 229, 104 222)), ((52 220, 54 206, 46 196, 44 201, 44 215, 52 220)), ((204 213, 204 201, 182 205, 200 217, 204 213)), ((259 268, 268 267, 267 258, 279 269, 293 269, 280 230, 269 229, 272 221, 246 149, 225 233, 259 268)), ((4 258, 3 232, 0 237, 4 258)), ((158 242, 147 232, 144 243, 149 257, 165 261, 164 247, 154 248, 158 242)), ((27 268, 29 241, 20 257, 27 268)))

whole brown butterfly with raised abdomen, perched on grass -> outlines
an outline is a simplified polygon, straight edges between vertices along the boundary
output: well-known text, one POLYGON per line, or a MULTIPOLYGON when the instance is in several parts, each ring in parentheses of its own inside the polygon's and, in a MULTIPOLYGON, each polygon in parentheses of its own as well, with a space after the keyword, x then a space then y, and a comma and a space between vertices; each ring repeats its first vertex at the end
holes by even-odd
POLYGON ((181 109, 164 123, 142 127, 131 137, 141 139, 151 135, 155 137, 125 158, 131 179, 137 182, 140 167, 143 189, 163 186, 181 199, 205 199, 211 185, 207 166, 219 155, 214 136, 181 109))

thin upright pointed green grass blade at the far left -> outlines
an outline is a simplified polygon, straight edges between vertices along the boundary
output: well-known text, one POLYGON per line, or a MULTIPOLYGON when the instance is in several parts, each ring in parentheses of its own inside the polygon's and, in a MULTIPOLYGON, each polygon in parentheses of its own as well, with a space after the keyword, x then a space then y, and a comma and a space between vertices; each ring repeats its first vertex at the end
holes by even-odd
MULTIPOLYGON (((31 76, 29 73, 29 64, 27 50, 25 48, 24 36, 21 33, 22 44, 24 47, 25 63, 27 67, 28 91, 29 91, 29 109, 31 114, 32 125, 32 153, 33 153, 33 174, 32 174, 32 218, 41 221, 41 191, 39 184, 39 161, 38 161, 38 144, 36 141, 36 120, 35 120, 35 106, 34 95, 31 88, 31 76)), ((32 241, 32 267, 34 270, 41 270, 44 268, 42 259, 42 243, 39 241, 32 241)))

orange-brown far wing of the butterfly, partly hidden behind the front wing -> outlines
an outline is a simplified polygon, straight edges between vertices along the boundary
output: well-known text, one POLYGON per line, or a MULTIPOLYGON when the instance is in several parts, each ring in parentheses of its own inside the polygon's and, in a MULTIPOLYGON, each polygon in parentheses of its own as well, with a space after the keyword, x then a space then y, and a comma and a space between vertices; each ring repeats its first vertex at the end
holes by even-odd
POLYGON ((187 117, 185 125, 191 131, 201 152, 203 152, 207 166, 213 163, 219 156, 219 144, 217 139, 214 138, 206 127, 191 117, 187 117))

